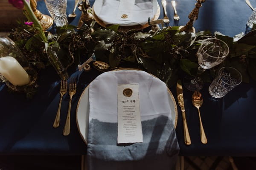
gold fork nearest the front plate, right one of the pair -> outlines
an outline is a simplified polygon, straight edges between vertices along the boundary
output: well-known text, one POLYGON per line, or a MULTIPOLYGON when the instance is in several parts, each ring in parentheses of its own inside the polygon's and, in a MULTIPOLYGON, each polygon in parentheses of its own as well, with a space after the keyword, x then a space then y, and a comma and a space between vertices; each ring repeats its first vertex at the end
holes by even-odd
POLYGON ((67 111, 67 119, 63 130, 63 135, 67 136, 70 134, 70 111, 71 111, 71 102, 72 97, 74 94, 76 94, 76 81, 75 79, 70 79, 70 88, 68 94, 70 95, 70 101, 68 105, 68 111, 67 111))

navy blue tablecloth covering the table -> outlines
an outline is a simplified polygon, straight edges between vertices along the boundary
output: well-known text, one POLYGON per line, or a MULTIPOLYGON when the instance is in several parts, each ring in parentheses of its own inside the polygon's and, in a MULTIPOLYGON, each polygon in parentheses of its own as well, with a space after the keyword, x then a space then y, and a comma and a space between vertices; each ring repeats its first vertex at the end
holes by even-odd
MULTIPOLYGON (((91 1, 92 3, 92 1, 91 1)), ((159 0, 160 3, 160 0, 159 0)), ((195 7, 195 0, 177 0, 177 12, 180 25, 185 25, 188 14, 195 7)), ((253 6, 255 2, 251 2, 253 6)), ((74 0, 68 0, 67 14, 73 10, 74 0)), ((160 5, 161 7, 161 5, 160 5)), ((48 11, 43 1, 38 1, 38 8, 44 14, 48 11)), ((168 1, 168 15, 173 23, 173 9, 168 1)), ((206 0, 200 8, 196 31, 220 31, 234 36, 244 32, 245 24, 251 14, 244 0, 206 0)), ((81 12, 70 24, 76 25, 81 12)), ((161 7, 160 18, 163 17, 161 7)), ((63 136, 68 108, 68 94, 64 95, 61 108, 60 127, 52 124, 60 99, 60 79, 53 68, 42 70, 38 79, 38 93, 32 100, 23 94, 9 93, 5 84, 0 83, 0 154, 26 155, 82 155, 86 154, 86 144, 81 139, 76 126, 76 106, 83 89, 99 74, 92 71, 85 73, 70 70, 72 77, 78 80, 78 90, 73 97, 71 109, 71 132, 63 136), (73 74, 72 74, 73 73, 73 74)), ((202 90, 204 104, 201 117, 208 143, 201 144, 199 118, 192 106, 192 92, 184 88, 186 118, 192 144, 186 146, 183 138, 183 124, 178 108, 177 138, 181 156, 256 156, 256 82, 242 83, 222 99, 214 99, 208 93, 209 85, 202 90)), ((176 96, 176 89, 171 89, 176 96)))

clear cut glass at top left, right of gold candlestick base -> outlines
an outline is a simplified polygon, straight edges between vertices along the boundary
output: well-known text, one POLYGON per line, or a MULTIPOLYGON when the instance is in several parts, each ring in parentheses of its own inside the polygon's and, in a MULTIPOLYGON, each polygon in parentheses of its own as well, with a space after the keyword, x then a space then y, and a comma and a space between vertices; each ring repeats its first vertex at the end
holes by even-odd
POLYGON ((67 25, 67 0, 44 0, 56 26, 67 25))

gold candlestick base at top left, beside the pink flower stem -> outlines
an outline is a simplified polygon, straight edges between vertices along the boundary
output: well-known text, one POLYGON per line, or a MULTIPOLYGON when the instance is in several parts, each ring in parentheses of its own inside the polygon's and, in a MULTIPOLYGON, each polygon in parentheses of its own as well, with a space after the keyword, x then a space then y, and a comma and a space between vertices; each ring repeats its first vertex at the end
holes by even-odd
POLYGON ((35 16, 37 17, 39 23, 41 24, 43 30, 45 31, 49 29, 53 24, 52 17, 50 17, 49 15, 42 14, 40 11, 37 10, 36 0, 30 0, 30 6, 35 16))

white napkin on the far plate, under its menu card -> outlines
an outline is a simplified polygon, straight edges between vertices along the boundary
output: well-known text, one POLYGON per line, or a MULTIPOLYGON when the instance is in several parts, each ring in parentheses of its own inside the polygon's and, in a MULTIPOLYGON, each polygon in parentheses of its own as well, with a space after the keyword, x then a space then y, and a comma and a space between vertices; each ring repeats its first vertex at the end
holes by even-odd
POLYGON ((120 0, 95 0, 93 10, 97 17, 106 25, 119 24, 120 26, 144 26, 148 23, 148 17, 152 19, 157 11, 157 0, 135 0, 135 4, 130 4, 133 6, 132 10, 127 9, 131 11, 131 17, 129 18, 128 16, 126 20, 122 20, 121 18, 119 20, 117 14, 119 14, 119 8, 122 8, 119 5, 120 0))

